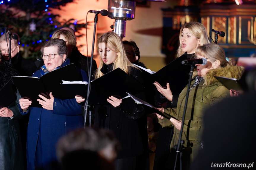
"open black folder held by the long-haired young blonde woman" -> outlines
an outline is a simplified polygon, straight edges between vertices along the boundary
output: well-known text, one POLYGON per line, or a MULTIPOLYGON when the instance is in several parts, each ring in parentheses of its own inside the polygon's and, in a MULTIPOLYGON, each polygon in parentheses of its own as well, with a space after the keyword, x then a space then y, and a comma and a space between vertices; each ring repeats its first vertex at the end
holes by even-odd
MULTIPOLYGON (((62 84, 63 87, 70 90, 73 94, 87 97, 87 86, 85 84, 62 84)), ((105 75, 91 81, 91 91, 89 97, 89 104, 103 105, 109 104, 107 98, 115 96, 116 98, 125 98, 126 92, 136 94, 144 86, 135 78, 126 74, 120 68, 117 68, 105 75)))

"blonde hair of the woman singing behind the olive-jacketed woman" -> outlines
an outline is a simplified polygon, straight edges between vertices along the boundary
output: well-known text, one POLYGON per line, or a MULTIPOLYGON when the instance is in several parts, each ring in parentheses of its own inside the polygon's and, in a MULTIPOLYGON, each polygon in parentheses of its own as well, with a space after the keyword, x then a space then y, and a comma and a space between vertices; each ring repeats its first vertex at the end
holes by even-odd
POLYGON ((187 22, 185 23, 179 32, 179 48, 177 50, 177 56, 180 57, 183 54, 185 54, 184 51, 182 51, 182 42, 181 40, 181 33, 183 31, 184 28, 188 28, 190 33, 192 35, 194 35, 197 39, 200 38, 200 46, 203 46, 204 44, 209 44, 209 38, 207 36, 207 32, 206 32, 206 28, 203 26, 203 24, 199 23, 199 22, 187 22))

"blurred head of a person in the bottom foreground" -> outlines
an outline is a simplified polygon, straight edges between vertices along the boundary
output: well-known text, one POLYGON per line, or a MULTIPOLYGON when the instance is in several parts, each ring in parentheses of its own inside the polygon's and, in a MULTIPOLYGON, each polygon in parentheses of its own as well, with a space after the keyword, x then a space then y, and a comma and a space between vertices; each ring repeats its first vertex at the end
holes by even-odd
POLYGON ((63 170, 114 170, 118 148, 118 140, 111 132, 85 128, 62 137, 56 153, 63 170))

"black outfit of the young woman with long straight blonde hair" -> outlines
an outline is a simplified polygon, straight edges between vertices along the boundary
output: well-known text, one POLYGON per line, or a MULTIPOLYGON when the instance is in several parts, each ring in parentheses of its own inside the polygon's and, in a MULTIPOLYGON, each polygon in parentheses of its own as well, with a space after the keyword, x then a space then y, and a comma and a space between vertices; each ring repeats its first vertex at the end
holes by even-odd
MULTIPOLYGON (((101 72, 106 74, 113 70, 113 64, 105 65, 101 72)), ((130 75, 143 83, 139 69, 131 68, 130 75)), ((118 77, 117 77, 118 78, 118 77)), ((135 95, 145 99, 144 92, 135 95)), ((131 98, 125 98, 118 107, 111 104, 95 106, 94 127, 111 130, 120 142, 121 149, 117 153, 115 169, 145 169, 141 155, 148 152, 147 116, 145 109, 137 105, 131 98)))

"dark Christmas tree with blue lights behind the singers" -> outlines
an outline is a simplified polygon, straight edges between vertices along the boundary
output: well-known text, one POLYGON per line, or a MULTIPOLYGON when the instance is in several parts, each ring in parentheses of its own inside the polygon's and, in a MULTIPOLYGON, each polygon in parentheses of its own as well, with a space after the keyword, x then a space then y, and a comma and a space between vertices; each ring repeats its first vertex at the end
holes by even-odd
MULTIPOLYGON (((77 23, 76 19, 58 21, 59 15, 50 9, 60 9, 73 0, 5 0, 0 1, 0 33, 5 29, 20 36, 20 51, 24 58, 34 61, 40 57, 40 46, 48 41, 52 34, 62 27, 74 27, 76 36, 83 34, 79 30, 85 23, 77 23)), ((8 37, 7 37, 8 39, 8 37)))

